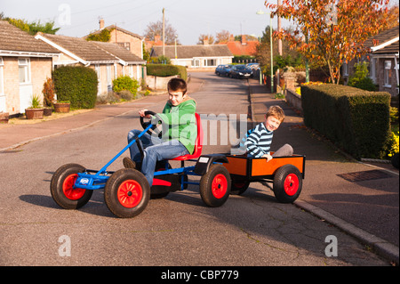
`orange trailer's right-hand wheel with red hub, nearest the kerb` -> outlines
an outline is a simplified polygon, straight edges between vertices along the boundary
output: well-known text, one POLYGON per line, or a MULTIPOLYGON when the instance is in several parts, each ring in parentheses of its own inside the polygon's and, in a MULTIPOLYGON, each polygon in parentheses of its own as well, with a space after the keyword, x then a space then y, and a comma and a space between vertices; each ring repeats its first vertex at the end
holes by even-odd
POLYGON ((284 165, 278 168, 274 177, 273 191, 281 203, 292 203, 300 195, 302 176, 296 166, 284 165))

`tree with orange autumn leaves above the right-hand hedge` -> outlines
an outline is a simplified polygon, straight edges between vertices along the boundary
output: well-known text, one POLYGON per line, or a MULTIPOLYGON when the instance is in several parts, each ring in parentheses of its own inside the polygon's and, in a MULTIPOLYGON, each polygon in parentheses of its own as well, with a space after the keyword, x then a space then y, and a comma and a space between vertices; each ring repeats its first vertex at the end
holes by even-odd
POLYGON ((281 5, 267 0, 265 5, 273 17, 296 24, 293 35, 276 31, 274 37, 286 38, 309 60, 328 66, 335 84, 342 63, 367 53, 365 40, 387 27, 388 0, 282 0, 281 5))

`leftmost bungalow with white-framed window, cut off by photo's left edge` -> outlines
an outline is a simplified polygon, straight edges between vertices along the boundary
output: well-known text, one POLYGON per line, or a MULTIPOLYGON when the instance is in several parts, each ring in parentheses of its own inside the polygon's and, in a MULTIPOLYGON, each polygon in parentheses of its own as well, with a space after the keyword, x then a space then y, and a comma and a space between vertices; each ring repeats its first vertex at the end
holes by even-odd
POLYGON ((24 113, 32 96, 43 100, 43 86, 52 77, 52 59, 60 51, 0 20, 0 112, 24 113))

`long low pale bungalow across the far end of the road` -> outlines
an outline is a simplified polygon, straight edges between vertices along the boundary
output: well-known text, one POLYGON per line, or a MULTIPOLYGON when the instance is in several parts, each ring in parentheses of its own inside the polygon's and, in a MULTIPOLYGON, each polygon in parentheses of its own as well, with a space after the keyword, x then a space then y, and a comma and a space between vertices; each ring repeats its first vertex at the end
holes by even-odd
POLYGON ((232 63, 233 55, 227 45, 165 45, 153 46, 150 57, 164 55, 174 65, 190 70, 213 70, 220 64, 232 63), (164 51, 163 51, 164 50, 164 51))

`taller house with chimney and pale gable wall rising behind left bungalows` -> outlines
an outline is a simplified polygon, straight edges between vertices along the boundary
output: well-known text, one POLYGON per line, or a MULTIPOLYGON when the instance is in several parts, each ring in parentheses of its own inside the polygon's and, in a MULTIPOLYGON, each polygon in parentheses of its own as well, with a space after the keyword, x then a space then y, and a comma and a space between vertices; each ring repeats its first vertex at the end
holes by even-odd
MULTIPOLYGON (((110 25, 108 27, 104 27, 104 20, 99 20, 100 29, 93 31, 90 35, 100 34, 103 29, 108 29, 110 31, 109 43, 114 43, 117 45, 123 46, 130 53, 143 58, 143 43, 144 37, 140 37, 139 35, 130 32, 124 28, 120 28, 116 25, 110 25)), ((85 36, 84 39, 86 39, 85 36)))

